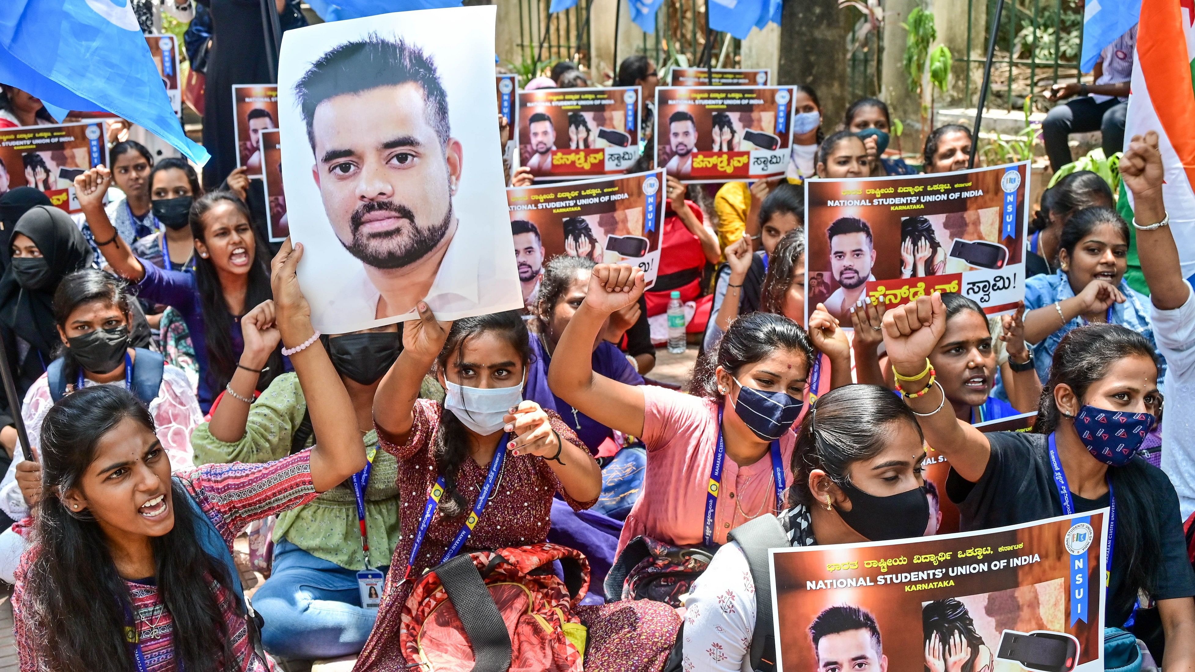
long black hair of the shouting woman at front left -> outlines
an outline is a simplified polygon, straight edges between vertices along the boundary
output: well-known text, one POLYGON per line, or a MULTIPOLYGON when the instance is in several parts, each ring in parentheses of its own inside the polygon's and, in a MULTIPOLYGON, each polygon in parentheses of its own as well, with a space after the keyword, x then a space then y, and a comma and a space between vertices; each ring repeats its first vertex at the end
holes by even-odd
MULTIPOLYGON (((149 411, 131 392, 96 385, 65 397, 42 423, 43 496, 35 509, 22 612, 41 662, 55 672, 136 670, 124 641, 129 587, 116 572, 99 524, 60 499, 78 487, 97 444, 125 421, 154 429, 149 411)), ((174 527, 151 544, 158 591, 173 622, 176 667, 220 672, 232 666, 232 633, 214 584, 234 595, 232 578, 196 540, 198 523, 183 499, 190 495, 178 484, 172 488, 174 527)))

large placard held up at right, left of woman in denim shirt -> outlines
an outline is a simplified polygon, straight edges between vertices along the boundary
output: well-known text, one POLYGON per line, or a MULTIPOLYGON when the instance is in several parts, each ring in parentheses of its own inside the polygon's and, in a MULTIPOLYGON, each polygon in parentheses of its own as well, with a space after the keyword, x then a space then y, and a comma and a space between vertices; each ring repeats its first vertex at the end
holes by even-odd
POLYGON ((1029 164, 805 181, 805 311, 851 324, 868 297, 891 308, 957 292, 988 314, 1025 295, 1029 164))

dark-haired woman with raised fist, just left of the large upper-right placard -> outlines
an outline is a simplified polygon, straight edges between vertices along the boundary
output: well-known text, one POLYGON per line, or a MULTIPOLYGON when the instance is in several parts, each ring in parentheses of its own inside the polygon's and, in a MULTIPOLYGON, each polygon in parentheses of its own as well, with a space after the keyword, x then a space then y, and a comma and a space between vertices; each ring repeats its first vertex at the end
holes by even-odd
POLYGON ((780 238, 801 228, 805 218, 804 190, 795 184, 777 185, 759 209, 761 250, 752 253, 750 240, 740 238, 724 251, 727 263, 718 267, 713 289, 713 319, 705 328, 705 347, 712 348, 718 336, 736 316, 759 310, 760 286, 767 271, 768 257, 780 238), (744 263, 746 262, 746 263, 744 263), (746 268, 744 268, 746 267, 746 268), (730 301, 724 299, 729 297, 730 301))

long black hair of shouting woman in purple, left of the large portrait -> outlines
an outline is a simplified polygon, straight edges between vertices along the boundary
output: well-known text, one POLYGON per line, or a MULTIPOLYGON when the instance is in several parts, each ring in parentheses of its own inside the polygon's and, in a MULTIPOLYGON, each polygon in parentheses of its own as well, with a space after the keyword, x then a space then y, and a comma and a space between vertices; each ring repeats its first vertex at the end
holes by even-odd
MULTIPOLYGON (((158 166, 165 163, 161 161, 158 166)), ((154 166, 154 170, 158 170, 158 166, 154 166)), ((262 301, 274 298, 274 292, 270 289, 270 268, 266 265, 270 251, 262 237, 257 234, 257 228, 252 226, 253 215, 249 213, 245 202, 231 191, 212 191, 196 198, 191 204, 189 218, 191 236, 197 240, 207 239, 203 215, 219 203, 232 203, 245 216, 253 236, 253 263, 249 268, 249 288, 245 292, 245 312, 249 312, 262 301)), ((203 329, 207 335, 208 371, 203 375, 208 377, 212 390, 220 391, 237 372, 237 354, 232 349, 231 332, 233 329, 239 329, 239 325, 233 322, 233 314, 228 310, 228 304, 225 303, 220 275, 210 258, 195 259, 195 288, 200 293, 200 303, 203 307, 203 329)), ((282 353, 278 348, 274 349, 265 365, 270 369, 258 377, 258 390, 265 390, 270 381, 282 373, 282 353)))

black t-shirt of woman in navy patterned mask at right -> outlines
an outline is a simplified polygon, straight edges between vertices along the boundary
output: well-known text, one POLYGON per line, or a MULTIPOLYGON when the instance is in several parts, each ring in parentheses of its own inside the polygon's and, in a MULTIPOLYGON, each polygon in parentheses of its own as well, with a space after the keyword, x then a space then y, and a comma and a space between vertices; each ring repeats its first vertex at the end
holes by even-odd
MULTIPOLYGON (((958 505, 962 514, 960 527, 963 531, 985 530, 1064 515, 1049 464, 1047 436, 1024 432, 993 432, 986 436, 992 444, 992 457, 983 476, 972 483, 951 469, 946 478, 946 495, 958 505)), ((1154 578, 1152 597, 1163 600, 1195 595, 1195 573, 1187 557, 1175 487, 1160 469, 1140 457, 1133 460, 1150 482, 1146 499, 1151 500, 1150 509, 1154 512, 1150 520, 1162 540, 1160 570, 1154 578)), ((1108 506, 1108 495, 1087 500, 1071 493, 1071 497, 1076 513, 1108 506)), ((1126 588, 1124 572, 1124 554, 1114 552, 1109 594, 1117 595, 1126 588)), ((1115 609, 1110 600, 1104 625, 1120 628, 1129 613, 1128 609, 1115 609)))

